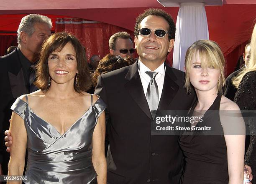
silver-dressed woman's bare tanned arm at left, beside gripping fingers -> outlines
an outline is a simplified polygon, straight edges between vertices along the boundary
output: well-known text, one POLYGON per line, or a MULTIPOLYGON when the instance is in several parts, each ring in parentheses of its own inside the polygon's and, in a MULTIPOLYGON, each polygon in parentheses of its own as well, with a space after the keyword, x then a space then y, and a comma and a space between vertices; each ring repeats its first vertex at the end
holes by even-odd
MULTIPOLYGON (((13 136, 13 144, 10 148, 10 161, 8 176, 23 175, 26 148, 27 148, 27 132, 24 120, 18 114, 13 112, 10 122, 10 133, 13 136)), ((17 182, 9 181, 8 184, 17 184, 17 182)), ((19 182, 20 184, 22 181, 19 182)))

